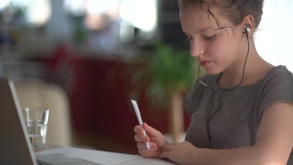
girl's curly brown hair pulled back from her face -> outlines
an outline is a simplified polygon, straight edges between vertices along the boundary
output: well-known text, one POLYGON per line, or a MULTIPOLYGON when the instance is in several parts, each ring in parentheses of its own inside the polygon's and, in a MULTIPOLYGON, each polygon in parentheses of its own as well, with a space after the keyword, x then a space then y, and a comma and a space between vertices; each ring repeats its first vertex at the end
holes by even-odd
MULTIPOLYGON (((219 6, 222 14, 234 25, 239 25, 245 16, 250 14, 254 17, 255 29, 257 29, 263 14, 264 0, 178 0, 180 8, 194 3, 199 3, 201 8, 207 10, 216 19, 217 23, 218 20, 210 11, 209 3, 219 6)), ((221 27, 219 26, 219 28, 221 27)))

